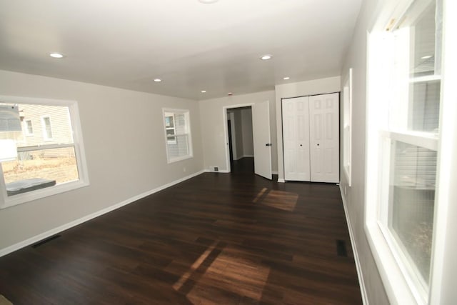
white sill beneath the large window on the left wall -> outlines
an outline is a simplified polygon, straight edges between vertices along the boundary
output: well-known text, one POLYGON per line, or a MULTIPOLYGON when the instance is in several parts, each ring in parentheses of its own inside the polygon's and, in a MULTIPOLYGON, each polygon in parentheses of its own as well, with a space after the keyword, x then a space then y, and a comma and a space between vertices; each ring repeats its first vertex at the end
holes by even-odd
POLYGON ((89 186, 89 181, 70 181, 63 184, 58 184, 55 186, 50 186, 44 189, 36 189, 34 191, 28 191, 26 193, 17 194, 13 196, 5 196, 3 204, 0 205, 0 209, 6 209, 11 206, 16 206, 18 204, 24 204, 29 201, 34 201, 36 199, 41 199, 56 194, 61 194, 66 191, 72 191, 74 189, 80 189, 81 187, 89 186))

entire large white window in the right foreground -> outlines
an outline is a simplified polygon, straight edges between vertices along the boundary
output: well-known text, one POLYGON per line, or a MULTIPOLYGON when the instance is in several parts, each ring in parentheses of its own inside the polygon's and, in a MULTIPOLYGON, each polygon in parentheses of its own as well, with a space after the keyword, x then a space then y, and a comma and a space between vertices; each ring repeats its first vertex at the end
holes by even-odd
POLYGON ((366 228, 386 291, 398 303, 426 304, 440 170, 442 4, 408 3, 368 37, 366 228))

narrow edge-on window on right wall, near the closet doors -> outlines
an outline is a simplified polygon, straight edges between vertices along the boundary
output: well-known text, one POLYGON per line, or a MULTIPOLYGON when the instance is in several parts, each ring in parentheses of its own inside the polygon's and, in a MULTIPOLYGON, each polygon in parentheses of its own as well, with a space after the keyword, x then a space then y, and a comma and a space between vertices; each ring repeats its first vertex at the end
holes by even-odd
POLYGON ((351 125, 352 125, 352 69, 349 69, 343 86, 343 169, 348 186, 351 186, 351 125))

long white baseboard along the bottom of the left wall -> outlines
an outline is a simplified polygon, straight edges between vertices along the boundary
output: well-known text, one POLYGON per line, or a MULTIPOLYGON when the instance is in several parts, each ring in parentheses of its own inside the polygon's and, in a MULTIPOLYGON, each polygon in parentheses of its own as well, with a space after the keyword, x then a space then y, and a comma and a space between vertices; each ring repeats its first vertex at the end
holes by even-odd
POLYGON ((24 241, 19 241, 19 243, 17 243, 17 244, 8 246, 8 247, 6 247, 4 249, 0 249, 0 257, 4 256, 6 254, 10 254, 11 252, 19 250, 21 248, 24 248, 25 246, 29 246, 31 244, 34 244, 37 241, 41 241, 42 239, 46 239, 49 236, 53 236, 55 234, 58 234, 61 231, 65 231, 67 229, 70 229, 73 226, 77 226, 77 225, 82 224, 82 223, 84 223, 86 221, 94 219, 94 218, 96 218, 98 216, 101 216, 103 214, 109 213, 110 211, 114 211, 116 209, 119 209, 122 206, 126 206, 127 204, 131 204, 134 201, 142 199, 142 198, 144 198, 146 196, 149 196, 151 194, 157 193, 158 191, 161 191, 163 189, 169 188, 170 186, 174 186, 175 184, 179 184, 179 183, 181 183, 183 181, 186 181, 188 179, 194 178, 195 176, 199 176, 199 174, 203 174, 203 173, 204 173, 204 171, 198 171, 198 172, 196 172, 194 174, 191 174, 189 176, 185 176, 184 178, 178 179, 176 181, 172 181, 169 184, 164 184, 163 186, 159 186, 156 189, 152 189, 150 191, 145 191, 142 194, 133 196, 133 197, 131 197, 129 199, 126 199, 126 200, 124 200, 122 202, 119 202, 119 204, 114 204, 113 206, 109 206, 109 207, 107 207, 105 209, 101 209, 100 211, 96 211, 95 213, 92 213, 92 214, 86 215, 84 217, 81 217, 80 219, 76 219, 74 221, 71 221, 68 224, 64 224, 62 226, 58 226, 58 227, 56 227, 54 229, 51 229, 51 230, 46 231, 44 233, 38 234, 38 235, 33 236, 33 237, 31 237, 29 239, 26 239, 24 241))

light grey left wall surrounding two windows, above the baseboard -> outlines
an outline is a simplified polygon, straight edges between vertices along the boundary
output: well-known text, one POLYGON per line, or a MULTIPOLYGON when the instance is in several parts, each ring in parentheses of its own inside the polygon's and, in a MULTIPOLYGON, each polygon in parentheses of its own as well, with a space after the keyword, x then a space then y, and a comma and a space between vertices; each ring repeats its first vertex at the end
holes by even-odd
POLYGON ((1 209, 0 251, 203 169, 197 101, 9 71, 0 71, 0 92, 78 101, 90 181, 1 209), (190 110, 194 158, 167 164, 162 107, 190 110))

